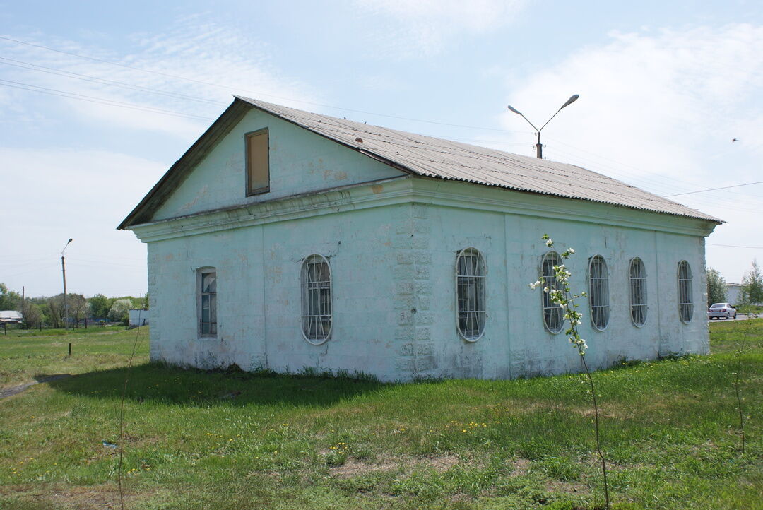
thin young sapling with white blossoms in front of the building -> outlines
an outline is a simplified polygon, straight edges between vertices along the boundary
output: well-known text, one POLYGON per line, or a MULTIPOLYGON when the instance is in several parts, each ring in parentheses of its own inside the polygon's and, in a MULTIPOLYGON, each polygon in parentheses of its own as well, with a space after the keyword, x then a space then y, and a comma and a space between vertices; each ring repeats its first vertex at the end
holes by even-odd
MULTIPOLYGON (((542 239, 546 242, 546 246, 549 248, 554 247, 554 241, 548 234, 543 234, 542 239)), ((575 250, 568 248, 560 255, 562 255, 563 260, 566 260, 572 255, 575 255, 575 250)), ((572 274, 564 264, 555 265, 553 267, 552 277, 547 274, 541 274, 539 280, 530 284, 530 288, 536 289, 542 285, 543 292, 549 295, 549 300, 564 311, 562 319, 569 322, 569 328, 565 331, 565 335, 567 335, 568 341, 578 349, 578 354, 580 354, 580 359, 583 362, 585 374, 588 376, 588 384, 591 387, 591 399, 593 399, 596 424, 596 452, 601 460, 601 473, 604 476, 605 508, 610 508, 610 491, 609 484, 607 483, 607 463, 604 460, 604 454, 601 453, 599 439, 599 406, 596 402, 596 388, 594 387, 594 379, 591 377, 591 370, 588 370, 588 363, 585 361, 585 352, 588 350, 588 344, 581 338, 580 332, 578 331, 578 326, 581 325, 583 314, 578 312, 578 304, 575 303, 575 300, 585 297, 586 294, 585 292, 579 294, 572 292, 569 284, 571 276, 572 274)))

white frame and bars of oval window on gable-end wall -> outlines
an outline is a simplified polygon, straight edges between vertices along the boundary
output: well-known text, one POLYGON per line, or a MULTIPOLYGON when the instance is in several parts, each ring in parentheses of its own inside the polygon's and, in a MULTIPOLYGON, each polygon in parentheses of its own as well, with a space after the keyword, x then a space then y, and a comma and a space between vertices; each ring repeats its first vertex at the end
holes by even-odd
MULTIPOLYGON (((319 275, 322 274, 319 272, 319 275)), ((333 332, 333 281, 331 277, 331 265, 329 263, 329 259, 324 257, 324 255, 320 255, 320 253, 307 255, 307 257, 303 258, 299 270, 299 288, 301 303, 300 330, 302 332, 302 337, 305 339, 305 341, 307 341, 307 343, 312 345, 322 345, 331 339, 331 333, 333 332), (320 261, 320 264, 326 266, 327 279, 323 281, 309 281, 309 278, 311 275, 313 275, 309 269, 309 266, 314 264, 314 261, 320 261), (311 289, 311 284, 317 284, 317 287, 311 289), (316 311, 312 310, 312 307, 316 302, 314 302, 314 300, 311 298, 311 290, 318 290, 318 313, 311 313, 316 311), (327 292, 321 293, 321 290, 327 292), (325 302, 326 300, 324 300, 324 295, 327 295, 327 303, 325 302), (324 305, 327 305, 327 313, 322 313, 326 310, 324 309, 324 305), (318 335, 317 330, 315 334, 313 334, 313 329, 311 326, 311 320, 313 318, 317 318, 317 324, 321 325, 322 335, 318 335), (328 331, 326 331, 323 326, 325 319, 327 319, 328 322, 328 331)))

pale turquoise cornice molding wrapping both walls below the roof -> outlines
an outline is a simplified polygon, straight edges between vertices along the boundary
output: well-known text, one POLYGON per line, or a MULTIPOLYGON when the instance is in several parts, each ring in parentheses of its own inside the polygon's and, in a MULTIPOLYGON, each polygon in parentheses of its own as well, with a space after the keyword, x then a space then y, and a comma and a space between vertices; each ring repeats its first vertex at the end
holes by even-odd
POLYGON ((129 228, 141 241, 153 242, 350 210, 414 203, 623 226, 686 236, 704 237, 715 227, 709 221, 665 213, 406 175, 158 220, 129 228))

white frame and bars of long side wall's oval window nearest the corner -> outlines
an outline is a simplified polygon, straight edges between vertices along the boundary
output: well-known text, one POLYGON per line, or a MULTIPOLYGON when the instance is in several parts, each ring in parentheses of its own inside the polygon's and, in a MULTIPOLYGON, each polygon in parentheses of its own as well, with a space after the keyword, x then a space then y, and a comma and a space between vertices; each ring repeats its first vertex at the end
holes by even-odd
MULTIPOLYGON (((488 265, 485 263, 485 255, 482 255, 474 246, 462 249, 456 254, 456 331, 466 342, 477 342, 485 335, 485 326, 488 319, 487 312, 487 277, 488 265), (475 274, 461 274, 461 261, 465 257, 476 255, 474 265, 475 274), (462 290, 467 287, 474 288, 474 296, 463 297, 462 290), (472 303, 469 303, 472 301, 472 303), (468 306, 462 309, 462 303, 468 306), (465 314, 464 326, 462 327, 462 315, 465 314), (470 317, 475 317, 477 328, 468 328, 470 317)), ((468 272, 468 271, 467 271, 468 272)))

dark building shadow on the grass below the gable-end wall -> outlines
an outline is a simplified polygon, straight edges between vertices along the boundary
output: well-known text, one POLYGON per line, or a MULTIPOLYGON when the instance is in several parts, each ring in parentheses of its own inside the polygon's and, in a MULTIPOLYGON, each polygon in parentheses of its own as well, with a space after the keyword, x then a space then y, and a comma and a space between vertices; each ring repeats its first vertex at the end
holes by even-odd
POLYGON ((388 388, 376 380, 330 374, 275 374, 243 370, 196 370, 146 363, 98 370, 67 379, 52 380, 50 387, 77 396, 120 399, 127 379, 127 401, 179 406, 332 406, 343 399, 388 388))

